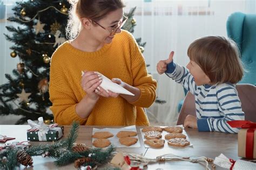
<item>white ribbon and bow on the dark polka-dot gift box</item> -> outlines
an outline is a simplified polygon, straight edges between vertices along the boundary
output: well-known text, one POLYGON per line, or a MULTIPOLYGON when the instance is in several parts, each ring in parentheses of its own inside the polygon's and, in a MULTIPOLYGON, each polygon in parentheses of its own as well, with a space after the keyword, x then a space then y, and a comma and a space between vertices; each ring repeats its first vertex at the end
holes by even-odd
POLYGON ((28 120, 28 124, 31 126, 31 129, 28 129, 28 132, 38 131, 38 139, 39 141, 46 141, 46 132, 49 130, 54 130, 59 132, 59 136, 62 136, 62 130, 60 128, 56 128, 58 126, 57 123, 46 125, 44 124, 43 117, 38 118, 38 123, 28 120))

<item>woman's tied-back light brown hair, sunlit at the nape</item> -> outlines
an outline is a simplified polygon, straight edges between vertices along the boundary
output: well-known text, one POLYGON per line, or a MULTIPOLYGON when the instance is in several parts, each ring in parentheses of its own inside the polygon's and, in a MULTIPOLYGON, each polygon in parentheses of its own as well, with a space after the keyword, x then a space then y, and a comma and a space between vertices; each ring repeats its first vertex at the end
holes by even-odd
POLYGON ((124 8, 122 0, 68 0, 71 4, 66 26, 66 37, 75 39, 81 29, 80 18, 89 18, 96 22, 109 12, 124 8))

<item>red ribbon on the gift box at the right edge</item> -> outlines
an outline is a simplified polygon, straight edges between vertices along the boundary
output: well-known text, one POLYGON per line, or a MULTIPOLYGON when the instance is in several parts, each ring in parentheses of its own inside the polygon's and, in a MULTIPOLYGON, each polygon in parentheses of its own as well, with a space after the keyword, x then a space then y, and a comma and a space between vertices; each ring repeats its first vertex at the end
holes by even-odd
POLYGON ((246 158, 253 159, 253 144, 254 144, 254 131, 256 130, 256 123, 251 121, 227 121, 232 128, 248 129, 246 132, 246 158))

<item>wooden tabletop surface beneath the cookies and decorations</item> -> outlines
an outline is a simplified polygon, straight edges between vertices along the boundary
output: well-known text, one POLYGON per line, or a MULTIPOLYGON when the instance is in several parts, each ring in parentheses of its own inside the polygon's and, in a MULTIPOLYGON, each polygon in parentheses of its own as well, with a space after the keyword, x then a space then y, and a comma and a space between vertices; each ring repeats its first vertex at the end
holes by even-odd
MULTIPOLYGON (((85 143, 89 146, 92 146, 92 129, 93 128, 118 128, 117 126, 80 126, 79 135, 76 143, 85 143)), ((137 126, 137 132, 140 141, 140 148, 117 148, 117 152, 122 151, 126 153, 137 153, 142 154, 147 158, 156 158, 159 155, 172 153, 181 156, 205 156, 209 158, 215 158, 220 153, 226 155, 226 157, 237 160, 240 159, 237 155, 238 144, 237 144, 237 134, 227 134, 219 132, 198 132, 196 129, 185 129, 188 134, 188 137, 193 144, 193 147, 186 148, 145 148, 142 140, 142 135, 140 134, 139 129, 142 128, 137 126)), ((15 137, 15 140, 6 141, 6 143, 11 143, 12 141, 25 141, 26 139, 26 130, 29 129, 28 125, 0 125, 0 134, 6 135, 8 137, 15 137)), ((70 126, 64 126, 64 138, 68 135, 70 126)), ((46 141, 34 141, 31 142, 32 145, 46 144, 49 142, 46 141)), ((0 143, 0 146, 4 145, 0 143)), ((55 159, 52 158, 42 158, 41 156, 33 157, 34 169, 75 169, 73 164, 56 167, 54 164, 55 159)), ((160 164, 149 164, 147 169, 204 169, 203 166, 199 164, 193 164, 186 161, 166 161, 160 164)), ((32 169, 32 168, 29 168, 32 169)), ((217 167, 217 169, 219 169, 217 167)))

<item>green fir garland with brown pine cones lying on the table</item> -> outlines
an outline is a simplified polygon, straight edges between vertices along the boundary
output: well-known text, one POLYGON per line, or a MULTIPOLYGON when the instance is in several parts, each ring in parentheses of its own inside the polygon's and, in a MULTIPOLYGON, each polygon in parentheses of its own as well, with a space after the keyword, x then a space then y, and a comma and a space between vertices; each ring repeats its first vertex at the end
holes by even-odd
POLYGON ((20 164, 33 166, 32 156, 52 157, 57 166, 64 166, 75 162, 75 167, 106 164, 113 157, 115 148, 107 150, 90 148, 82 144, 75 144, 78 136, 79 124, 74 122, 66 139, 53 144, 42 144, 29 148, 9 147, 0 152, 0 169, 16 169, 20 164))

